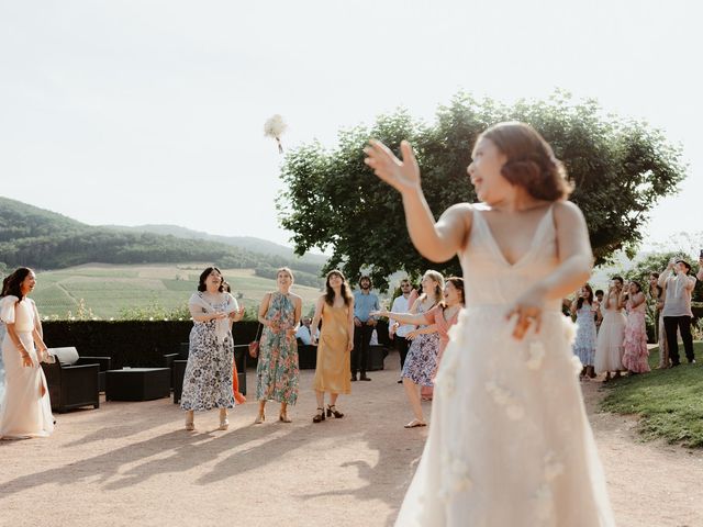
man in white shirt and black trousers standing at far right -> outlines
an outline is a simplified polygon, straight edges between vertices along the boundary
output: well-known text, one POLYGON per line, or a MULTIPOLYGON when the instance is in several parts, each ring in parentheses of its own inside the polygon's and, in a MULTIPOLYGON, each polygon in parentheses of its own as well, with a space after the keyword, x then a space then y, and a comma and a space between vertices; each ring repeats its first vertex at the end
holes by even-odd
POLYGON ((693 336, 691 335, 691 293, 695 287, 695 277, 689 277, 691 266, 684 260, 673 259, 667 266, 667 270, 659 277, 659 287, 665 290, 663 328, 667 332, 667 345, 671 367, 679 366, 679 343, 677 341, 677 328, 681 332, 683 350, 689 363, 695 363, 693 355, 693 336))

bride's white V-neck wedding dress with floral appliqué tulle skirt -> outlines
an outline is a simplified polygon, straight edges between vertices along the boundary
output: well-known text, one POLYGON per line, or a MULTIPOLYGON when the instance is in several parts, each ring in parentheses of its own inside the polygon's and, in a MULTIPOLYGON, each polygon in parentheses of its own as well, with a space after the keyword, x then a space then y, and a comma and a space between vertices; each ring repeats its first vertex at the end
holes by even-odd
POLYGON ((466 310, 435 382, 425 450, 400 527, 613 526, 577 381, 574 326, 554 301, 539 334, 515 340, 510 303, 557 267, 551 209, 510 265, 479 208, 460 254, 466 310))

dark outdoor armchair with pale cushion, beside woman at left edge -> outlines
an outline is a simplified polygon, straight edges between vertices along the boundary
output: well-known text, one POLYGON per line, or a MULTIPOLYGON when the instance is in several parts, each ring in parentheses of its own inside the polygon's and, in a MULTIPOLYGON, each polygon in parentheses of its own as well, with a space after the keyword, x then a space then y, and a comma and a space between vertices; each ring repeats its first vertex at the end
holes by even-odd
MULTIPOLYGON (((100 365, 96 360, 83 363, 76 348, 49 348, 56 362, 42 362, 52 410, 58 413, 81 406, 100 407, 100 365)), ((92 358, 94 359, 94 358, 92 358)), ((104 359, 101 357, 101 359, 104 359)))

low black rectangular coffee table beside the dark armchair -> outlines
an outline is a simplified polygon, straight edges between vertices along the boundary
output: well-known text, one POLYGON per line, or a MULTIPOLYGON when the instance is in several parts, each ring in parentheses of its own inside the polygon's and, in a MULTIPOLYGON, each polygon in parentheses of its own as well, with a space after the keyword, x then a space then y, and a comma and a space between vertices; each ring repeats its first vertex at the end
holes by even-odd
POLYGON ((105 401, 152 401, 171 394, 170 368, 105 371, 105 401))

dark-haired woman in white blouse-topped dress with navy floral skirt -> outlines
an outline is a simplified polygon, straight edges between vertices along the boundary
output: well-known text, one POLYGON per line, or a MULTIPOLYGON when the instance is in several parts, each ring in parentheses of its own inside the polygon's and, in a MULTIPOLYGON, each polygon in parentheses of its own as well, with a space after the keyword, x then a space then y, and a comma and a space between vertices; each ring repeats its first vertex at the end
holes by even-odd
POLYGON ((194 412, 220 408, 220 427, 230 426, 227 408, 234 407, 232 361, 234 343, 230 321, 244 316, 237 301, 224 291, 220 269, 209 267, 200 274, 198 292, 188 302, 193 317, 188 365, 180 406, 186 411, 186 429, 194 430, 194 412))

